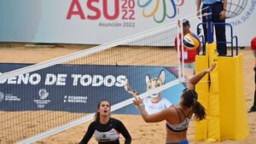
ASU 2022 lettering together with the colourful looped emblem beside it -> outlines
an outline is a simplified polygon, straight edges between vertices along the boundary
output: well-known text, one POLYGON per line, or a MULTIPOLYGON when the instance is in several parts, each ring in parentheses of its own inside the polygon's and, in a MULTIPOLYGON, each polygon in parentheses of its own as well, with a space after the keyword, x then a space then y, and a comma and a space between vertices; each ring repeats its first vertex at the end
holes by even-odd
POLYGON ((174 18, 184 0, 72 0, 67 20, 136 20, 136 12, 157 23, 174 18), (136 11, 137 7, 137 11, 136 11))

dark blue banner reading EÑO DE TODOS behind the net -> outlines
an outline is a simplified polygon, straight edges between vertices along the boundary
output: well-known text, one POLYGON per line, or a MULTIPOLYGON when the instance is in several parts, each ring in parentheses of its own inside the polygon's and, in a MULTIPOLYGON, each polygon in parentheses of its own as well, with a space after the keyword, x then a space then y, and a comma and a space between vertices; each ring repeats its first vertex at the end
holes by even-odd
MULTIPOLYGON (((0 64, 0 72, 9 72, 32 64, 0 64)), ((101 99, 116 104, 131 98, 124 89, 128 78, 139 92, 146 90, 145 76, 166 72, 166 83, 175 79, 176 67, 162 66, 90 66, 58 65, 23 76, 0 80, 0 111, 95 112, 101 99), (136 74, 135 74, 136 73, 136 74), (24 90, 26 89, 26 90, 24 90)), ((177 104, 183 84, 164 90, 161 95, 177 104)), ((133 105, 115 113, 138 114, 133 105)))

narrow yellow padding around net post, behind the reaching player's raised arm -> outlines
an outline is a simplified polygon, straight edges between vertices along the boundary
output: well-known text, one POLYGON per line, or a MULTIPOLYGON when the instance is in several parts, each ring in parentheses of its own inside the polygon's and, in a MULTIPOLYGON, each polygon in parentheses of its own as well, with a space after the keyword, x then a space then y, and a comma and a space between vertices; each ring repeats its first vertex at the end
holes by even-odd
MULTIPOLYGON (((207 43, 206 55, 196 59, 196 72, 205 70, 213 62, 218 63, 216 43, 207 43), (198 60, 198 61, 197 61, 198 60)), ((220 141, 219 135, 219 95, 218 95, 218 64, 207 75, 208 83, 197 84, 195 89, 200 95, 199 101, 207 110, 207 118, 201 122, 195 122, 195 140, 197 141, 220 141)))

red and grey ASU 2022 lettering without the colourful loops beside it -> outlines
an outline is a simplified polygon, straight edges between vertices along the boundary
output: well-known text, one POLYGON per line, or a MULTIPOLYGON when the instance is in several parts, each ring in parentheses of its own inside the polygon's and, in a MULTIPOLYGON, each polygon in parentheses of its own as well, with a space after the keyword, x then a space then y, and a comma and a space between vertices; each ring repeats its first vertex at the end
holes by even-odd
POLYGON ((79 16, 81 20, 135 20, 136 0, 73 0, 67 13, 67 20, 79 16), (84 2, 84 1, 83 1, 84 2), (86 14, 86 12, 87 14, 86 14))

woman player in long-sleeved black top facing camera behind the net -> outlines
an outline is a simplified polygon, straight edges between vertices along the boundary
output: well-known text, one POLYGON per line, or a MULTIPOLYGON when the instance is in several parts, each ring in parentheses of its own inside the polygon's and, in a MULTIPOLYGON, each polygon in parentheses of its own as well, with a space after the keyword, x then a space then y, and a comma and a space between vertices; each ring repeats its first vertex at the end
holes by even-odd
POLYGON ((125 125, 118 119, 110 118, 108 100, 102 100, 98 103, 96 120, 89 125, 84 138, 79 144, 88 143, 93 134, 95 134, 96 141, 99 144, 119 144, 119 134, 125 137, 125 144, 131 143, 131 135, 126 130, 125 125))

